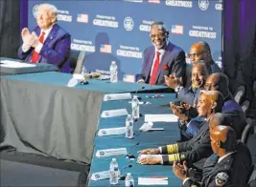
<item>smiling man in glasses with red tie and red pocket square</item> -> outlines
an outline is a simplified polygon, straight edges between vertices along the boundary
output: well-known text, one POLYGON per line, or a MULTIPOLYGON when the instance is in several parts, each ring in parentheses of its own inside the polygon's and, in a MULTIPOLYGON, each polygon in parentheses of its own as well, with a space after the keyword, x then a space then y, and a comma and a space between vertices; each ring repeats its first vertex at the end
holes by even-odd
POLYGON ((168 41, 168 35, 163 22, 151 24, 150 36, 153 46, 144 52, 142 72, 137 76, 138 83, 165 85, 164 75, 185 75, 185 52, 168 41))

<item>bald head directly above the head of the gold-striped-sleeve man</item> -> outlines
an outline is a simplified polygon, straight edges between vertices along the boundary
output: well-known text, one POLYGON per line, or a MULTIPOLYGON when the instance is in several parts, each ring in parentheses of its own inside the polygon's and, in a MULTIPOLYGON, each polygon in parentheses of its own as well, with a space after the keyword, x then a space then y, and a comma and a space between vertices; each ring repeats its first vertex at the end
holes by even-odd
POLYGON ((229 94, 229 80, 224 73, 212 73, 210 74, 204 85, 206 91, 219 91, 224 96, 229 94))

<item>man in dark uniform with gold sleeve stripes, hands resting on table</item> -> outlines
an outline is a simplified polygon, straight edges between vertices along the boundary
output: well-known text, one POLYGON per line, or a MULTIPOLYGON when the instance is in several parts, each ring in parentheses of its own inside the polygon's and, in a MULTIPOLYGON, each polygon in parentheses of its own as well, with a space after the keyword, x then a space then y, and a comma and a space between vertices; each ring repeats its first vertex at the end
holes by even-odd
POLYGON ((204 116, 205 120, 197 135, 191 140, 162 146, 155 149, 139 151, 142 155, 138 160, 140 164, 172 164, 174 161, 186 160, 191 166, 198 160, 211 156, 212 149, 209 136, 209 119, 221 112, 223 96, 218 91, 202 91, 198 100, 198 116, 204 116))

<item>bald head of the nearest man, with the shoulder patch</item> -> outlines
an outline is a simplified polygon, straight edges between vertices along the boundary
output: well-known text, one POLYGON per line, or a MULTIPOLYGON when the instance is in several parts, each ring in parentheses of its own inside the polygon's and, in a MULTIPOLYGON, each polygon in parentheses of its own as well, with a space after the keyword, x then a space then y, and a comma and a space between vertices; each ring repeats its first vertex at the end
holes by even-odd
POLYGON ((236 133, 229 126, 215 126, 210 131, 211 145, 214 153, 219 154, 220 150, 231 152, 235 149, 236 133))

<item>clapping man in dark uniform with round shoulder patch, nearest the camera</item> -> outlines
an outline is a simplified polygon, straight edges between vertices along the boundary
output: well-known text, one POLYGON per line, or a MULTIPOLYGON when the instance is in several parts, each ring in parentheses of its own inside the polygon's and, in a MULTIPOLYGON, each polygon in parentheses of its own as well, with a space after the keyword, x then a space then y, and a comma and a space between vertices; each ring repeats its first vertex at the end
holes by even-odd
POLYGON ((235 131, 228 126, 211 127, 210 138, 214 154, 206 159, 201 180, 190 177, 185 161, 174 163, 175 176, 183 181, 183 187, 246 186, 251 170, 248 148, 236 141, 235 131))

